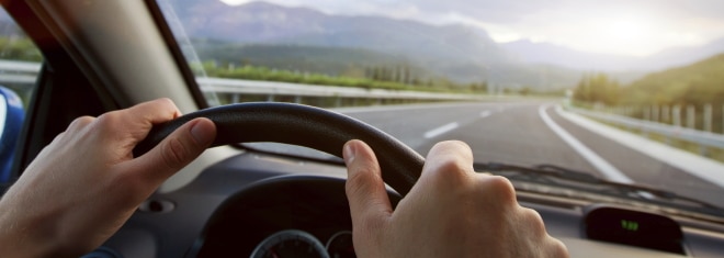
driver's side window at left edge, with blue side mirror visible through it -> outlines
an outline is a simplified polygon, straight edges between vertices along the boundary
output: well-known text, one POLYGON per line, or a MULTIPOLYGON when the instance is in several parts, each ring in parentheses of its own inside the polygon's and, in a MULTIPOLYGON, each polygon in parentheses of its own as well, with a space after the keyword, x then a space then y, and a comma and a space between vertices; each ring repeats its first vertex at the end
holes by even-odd
POLYGON ((12 180, 15 146, 42 61, 33 41, 0 9, 0 183, 12 180))

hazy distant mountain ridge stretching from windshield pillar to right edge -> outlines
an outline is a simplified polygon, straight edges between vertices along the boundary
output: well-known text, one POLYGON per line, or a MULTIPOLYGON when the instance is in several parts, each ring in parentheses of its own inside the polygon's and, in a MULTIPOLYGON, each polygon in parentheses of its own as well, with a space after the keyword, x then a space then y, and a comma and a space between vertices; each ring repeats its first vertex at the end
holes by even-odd
POLYGON ((219 1, 180 1, 193 5, 183 9, 188 10, 184 15, 192 18, 184 24, 191 35, 236 43, 366 47, 410 55, 417 54, 410 49, 410 42, 428 35, 428 45, 421 47, 434 58, 472 58, 485 65, 547 64, 601 71, 656 71, 724 53, 724 37, 703 46, 672 47, 647 57, 633 57, 588 53, 529 40, 497 43, 485 29, 463 24, 432 25, 380 15, 328 14, 308 7, 284 7, 264 1, 239 5, 219 1), (391 43, 384 44, 385 37, 391 43), (446 41, 455 41, 454 47, 446 41))

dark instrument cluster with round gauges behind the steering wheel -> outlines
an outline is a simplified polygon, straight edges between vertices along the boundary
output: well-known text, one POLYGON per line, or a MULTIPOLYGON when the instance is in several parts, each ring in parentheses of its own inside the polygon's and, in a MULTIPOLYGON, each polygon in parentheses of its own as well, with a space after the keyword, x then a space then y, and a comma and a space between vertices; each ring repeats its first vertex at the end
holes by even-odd
MULTIPOLYGON (((389 197, 394 203, 399 200, 395 193, 389 197)), ((192 256, 354 257, 351 232, 343 179, 275 177, 226 200, 192 256)))

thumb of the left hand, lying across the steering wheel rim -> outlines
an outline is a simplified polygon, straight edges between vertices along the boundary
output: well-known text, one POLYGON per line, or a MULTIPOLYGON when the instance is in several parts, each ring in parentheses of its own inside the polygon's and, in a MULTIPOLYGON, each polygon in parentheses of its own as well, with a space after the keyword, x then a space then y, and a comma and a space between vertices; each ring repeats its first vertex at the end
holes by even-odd
POLYGON ((216 125, 200 117, 181 125, 160 144, 134 161, 149 182, 161 183, 193 161, 216 138, 216 125), (152 171, 152 172, 148 172, 152 171))

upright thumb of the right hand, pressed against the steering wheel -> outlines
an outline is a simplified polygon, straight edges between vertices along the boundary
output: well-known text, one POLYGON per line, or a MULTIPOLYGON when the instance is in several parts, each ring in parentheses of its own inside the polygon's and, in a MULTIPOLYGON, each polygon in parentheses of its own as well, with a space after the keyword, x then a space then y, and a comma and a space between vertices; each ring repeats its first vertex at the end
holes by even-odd
POLYGON ((352 224, 358 228, 373 227, 370 223, 384 221, 381 218, 393 211, 377 158, 370 146, 357 139, 344 144, 342 155, 347 164, 346 190, 352 224))

